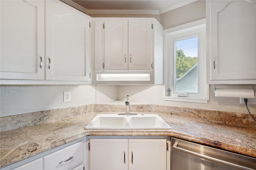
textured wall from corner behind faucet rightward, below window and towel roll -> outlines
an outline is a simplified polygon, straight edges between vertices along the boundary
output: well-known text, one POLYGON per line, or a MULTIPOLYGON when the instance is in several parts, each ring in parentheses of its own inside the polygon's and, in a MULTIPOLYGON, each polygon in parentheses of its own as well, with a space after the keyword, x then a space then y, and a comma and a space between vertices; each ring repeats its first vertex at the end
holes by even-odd
MULTIPOLYGON (((252 88, 252 85, 217 85, 220 88, 252 88)), ((209 88, 209 101, 207 104, 192 102, 176 102, 164 100, 164 85, 119 85, 118 100, 124 103, 129 95, 130 104, 160 104, 168 106, 190 107, 207 110, 229 111, 235 113, 248 113, 240 98, 215 97, 213 85, 209 88)), ((256 115, 256 105, 248 105, 250 112, 256 115)))

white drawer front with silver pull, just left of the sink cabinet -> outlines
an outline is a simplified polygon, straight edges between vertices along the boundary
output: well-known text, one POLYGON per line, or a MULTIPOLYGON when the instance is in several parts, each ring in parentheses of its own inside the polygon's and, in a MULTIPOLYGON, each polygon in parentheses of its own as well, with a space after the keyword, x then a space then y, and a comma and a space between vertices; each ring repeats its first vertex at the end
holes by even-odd
POLYGON ((70 170, 83 162, 82 141, 44 156, 45 170, 70 170))

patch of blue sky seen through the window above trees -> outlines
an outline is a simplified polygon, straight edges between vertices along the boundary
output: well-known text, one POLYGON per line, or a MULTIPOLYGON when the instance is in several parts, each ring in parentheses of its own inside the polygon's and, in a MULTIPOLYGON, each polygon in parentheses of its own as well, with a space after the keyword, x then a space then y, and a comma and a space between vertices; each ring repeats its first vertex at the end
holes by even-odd
POLYGON ((188 39, 182 39, 176 41, 177 49, 182 49, 187 57, 197 57, 198 55, 198 37, 192 37, 188 39))

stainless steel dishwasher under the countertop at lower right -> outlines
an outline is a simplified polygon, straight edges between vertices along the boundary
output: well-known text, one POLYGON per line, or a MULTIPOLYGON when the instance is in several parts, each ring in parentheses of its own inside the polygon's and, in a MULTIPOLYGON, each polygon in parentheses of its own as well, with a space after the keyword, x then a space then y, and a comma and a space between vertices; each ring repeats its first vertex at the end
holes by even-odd
POLYGON ((256 158, 172 138, 172 170, 255 170, 256 158))

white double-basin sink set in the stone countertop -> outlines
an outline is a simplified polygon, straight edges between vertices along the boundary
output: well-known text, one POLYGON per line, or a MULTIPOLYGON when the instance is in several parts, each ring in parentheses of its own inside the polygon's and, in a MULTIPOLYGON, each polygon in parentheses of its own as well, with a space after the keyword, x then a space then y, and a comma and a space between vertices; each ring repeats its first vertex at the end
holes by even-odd
POLYGON ((170 129, 157 114, 98 114, 84 129, 170 129))

